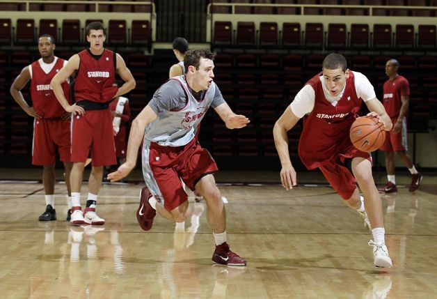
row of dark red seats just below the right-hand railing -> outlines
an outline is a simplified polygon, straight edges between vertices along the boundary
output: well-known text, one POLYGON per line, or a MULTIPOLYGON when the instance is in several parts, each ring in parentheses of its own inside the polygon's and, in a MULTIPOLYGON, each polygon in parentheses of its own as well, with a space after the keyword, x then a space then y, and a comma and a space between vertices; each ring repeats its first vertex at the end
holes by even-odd
POLYGON ((397 24, 392 31, 391 24, 374 24, 372 31, 368 24, 328 24, 325 31, 322 23, 285 22, 282 30, 276 22, 261 22, 255 29, 254 22, 238 22, 237 30, 231 22, 214 22, 213 44, 216 47, 331 47, 331 48, 434 48, 436 47, 436 25, 397 24), (303 29, 303 30, 302 30, 303 29))

